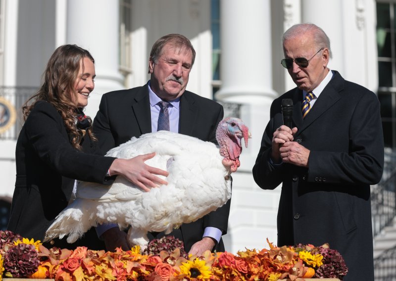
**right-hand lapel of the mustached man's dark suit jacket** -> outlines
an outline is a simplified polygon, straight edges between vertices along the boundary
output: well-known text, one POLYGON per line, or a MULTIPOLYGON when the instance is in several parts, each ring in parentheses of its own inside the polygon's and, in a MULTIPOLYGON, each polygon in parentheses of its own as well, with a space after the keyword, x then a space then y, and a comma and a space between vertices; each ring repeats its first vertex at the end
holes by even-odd
POLYGON ((197 119, 197 108, 194 106, 195 100, 185 91, 180 98, 179 113, 179 133, 192 136, 194 124, 197 119))

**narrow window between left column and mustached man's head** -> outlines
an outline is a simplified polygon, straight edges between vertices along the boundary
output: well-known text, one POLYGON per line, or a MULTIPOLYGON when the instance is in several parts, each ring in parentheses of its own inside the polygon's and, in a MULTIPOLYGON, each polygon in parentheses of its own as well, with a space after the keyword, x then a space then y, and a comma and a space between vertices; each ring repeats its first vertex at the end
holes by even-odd
MULTIPOLYGON (((131 15, 132 0, 120 0, 119 69, 127 81, 131 74, 131 15)), ((126 84, 126 82, 124 83, 126 84)), ((129 88, 129 85, 125 85, 129 88)))

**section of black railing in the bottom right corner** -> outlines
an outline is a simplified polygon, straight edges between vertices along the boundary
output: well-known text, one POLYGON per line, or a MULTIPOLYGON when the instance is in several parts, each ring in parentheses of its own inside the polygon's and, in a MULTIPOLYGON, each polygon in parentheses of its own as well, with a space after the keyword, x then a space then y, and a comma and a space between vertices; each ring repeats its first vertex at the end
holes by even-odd
POLYGON ((384 251, 374 259, 374 280, 396 280, 396 247, 384 251))

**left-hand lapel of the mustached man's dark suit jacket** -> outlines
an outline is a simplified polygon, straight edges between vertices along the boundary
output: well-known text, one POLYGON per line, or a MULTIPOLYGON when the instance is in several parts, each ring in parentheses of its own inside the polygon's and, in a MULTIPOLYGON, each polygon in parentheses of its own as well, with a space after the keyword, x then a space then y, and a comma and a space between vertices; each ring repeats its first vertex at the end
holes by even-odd
POLYGON ((142 90, 133 98, 132 110, 139 124, 141 134, 151 133, 150 98, 147 85, 142 87, 142 90))

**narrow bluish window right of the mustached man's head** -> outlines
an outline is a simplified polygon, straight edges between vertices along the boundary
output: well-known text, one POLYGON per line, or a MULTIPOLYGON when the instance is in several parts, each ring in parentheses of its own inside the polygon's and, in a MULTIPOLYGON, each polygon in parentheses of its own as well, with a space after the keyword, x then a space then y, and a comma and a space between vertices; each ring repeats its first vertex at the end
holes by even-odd
POLYGON ((211 0, 210 23, 212 31, 212 93, 220 89, 220 0, 211 0))

